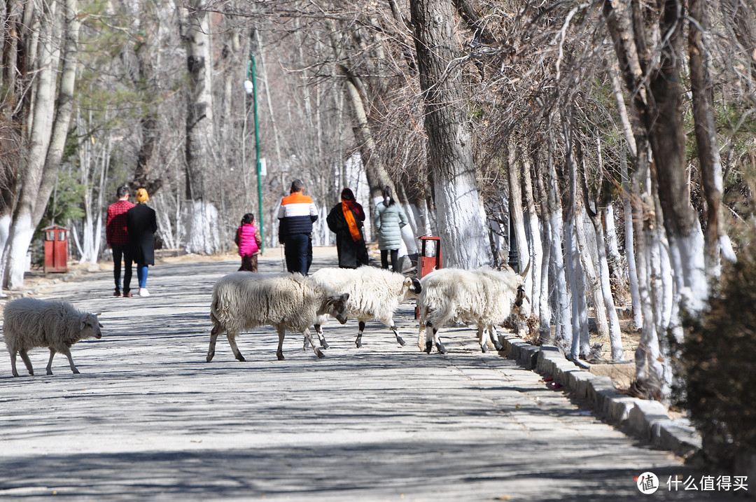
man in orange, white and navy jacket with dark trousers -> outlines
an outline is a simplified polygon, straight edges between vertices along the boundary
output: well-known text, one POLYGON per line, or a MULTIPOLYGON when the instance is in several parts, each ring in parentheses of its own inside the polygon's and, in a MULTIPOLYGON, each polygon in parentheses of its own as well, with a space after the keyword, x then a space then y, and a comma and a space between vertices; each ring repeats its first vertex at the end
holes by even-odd
POLYGON ((318 208, 304 194, 302 181, 292 181, 290 191, 278 209, 278 241, 285 246, 287 270, 307 275, 312 263, 312 224, 318 220, 318 208))

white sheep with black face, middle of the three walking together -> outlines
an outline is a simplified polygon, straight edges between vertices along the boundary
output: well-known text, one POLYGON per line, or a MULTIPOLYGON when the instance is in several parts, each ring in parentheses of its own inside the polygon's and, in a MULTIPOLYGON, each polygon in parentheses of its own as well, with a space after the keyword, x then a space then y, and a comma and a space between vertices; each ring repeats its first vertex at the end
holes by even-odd
MULTIPOLYGON (((376 319, 394 332, 396 341, 404 346, 404 340, 399 336, 394 324, 394 312, 401 302, 420 294, 420 281, 414 277, 405 277, 398 272, 391 272, 383 268, 321 268, 310 277, 319 284, 324 284, 335 291, 349 293, 346 302, 347 313, 350 318, 359 321, 359 332, 355 345, 362 346, 362 332, 365 321, 376 319)), ((321 325, 325 318, 320 318, 314 325, 318 333, 321 346, 328 348, 323 336, 321 325)), ((307 340, 305 340, 306 346, 307 340)))

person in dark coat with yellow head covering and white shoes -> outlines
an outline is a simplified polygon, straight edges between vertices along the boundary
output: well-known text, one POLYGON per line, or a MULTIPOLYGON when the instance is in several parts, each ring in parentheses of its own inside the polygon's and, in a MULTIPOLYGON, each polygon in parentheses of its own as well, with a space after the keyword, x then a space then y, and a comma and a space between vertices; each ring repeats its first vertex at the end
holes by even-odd
POLYGON ((150 197, 144 188, 136 194, 137 205, 126 212, 126 228, 132 246, 132 259, 137 264, 139 296, 150 296, 147 291, 147 266, 155 265, 155 232, 157 220, 155 210, 147 206, 150 197))

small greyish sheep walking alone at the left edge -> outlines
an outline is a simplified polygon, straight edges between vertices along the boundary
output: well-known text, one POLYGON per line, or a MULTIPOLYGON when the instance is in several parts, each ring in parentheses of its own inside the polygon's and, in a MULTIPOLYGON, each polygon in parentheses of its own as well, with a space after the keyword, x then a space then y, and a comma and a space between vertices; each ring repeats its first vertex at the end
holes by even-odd
POLYGON ((70 347, 81 339, 101 338, 102 324, 99 314, 76 310, 70 303, 20 298, 8 302, 3 311, 3 335, 8 352, 11 353, 11 370, 18 377, 16 353, 18 352, 29 370, 34 374, 32 361, 26 351, 34 347, 48 347, 50 360, 47 374, 52 374, 52 358, 56 352, 65 354, 73 373, 79 373, 71 358, 70 347))

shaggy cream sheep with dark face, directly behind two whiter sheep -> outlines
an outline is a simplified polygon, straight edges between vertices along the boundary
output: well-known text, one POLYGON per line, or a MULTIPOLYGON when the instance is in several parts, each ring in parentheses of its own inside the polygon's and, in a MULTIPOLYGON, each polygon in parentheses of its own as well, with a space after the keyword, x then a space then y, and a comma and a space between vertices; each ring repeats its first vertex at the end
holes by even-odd
MULTIPOLYGON (((333 315, 341 324, 346 322, 346 301, 349 294, 336 294, 303 277, 301 274, 253 274, 235 272, 222 277, 212 288, 210 305, 210 346, 207 361, 215 355, 215 340, 225 332, 231 350, 244 361, 236 344, 242 330, 258 326, 272 326, 278 333, 279 361, 283 360, 283 336, 286 330, 302 333, 312 343, 309 327, 318 316, 333 315)), ((315 355, 323 357, 320 349, 315 355)))

